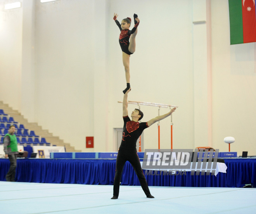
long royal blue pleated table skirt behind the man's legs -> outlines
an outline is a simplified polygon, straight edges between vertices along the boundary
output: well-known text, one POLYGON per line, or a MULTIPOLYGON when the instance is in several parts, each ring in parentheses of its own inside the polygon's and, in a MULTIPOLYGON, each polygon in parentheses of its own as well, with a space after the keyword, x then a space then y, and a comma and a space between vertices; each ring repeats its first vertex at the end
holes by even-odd
MULTIPOLYGON (((149 186, 168 187, 243 187, 256 184, 256 159, 225 159, 227 174, 147 175, 149 186), (235 161, 237 160, 237 161, 235 161)), ((0 160, 0 180, 5 181, 9 160, 0 160)), ((16 181, 35 183, 78 183, 112 185, 116 160, 103 159, 18 159, 16 181)), ((140 185, 130 163, 123 169, 121 185, 140 185)))

